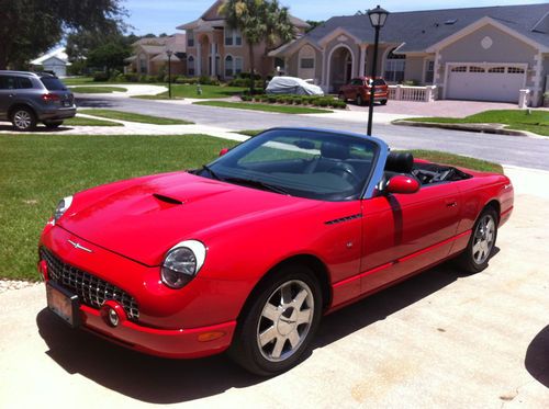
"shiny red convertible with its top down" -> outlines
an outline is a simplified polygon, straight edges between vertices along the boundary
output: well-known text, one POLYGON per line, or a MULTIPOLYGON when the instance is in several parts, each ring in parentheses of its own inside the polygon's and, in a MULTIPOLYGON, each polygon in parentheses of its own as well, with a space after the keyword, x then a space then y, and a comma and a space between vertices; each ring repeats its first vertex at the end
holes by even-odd
POLYGON ((323 315, 450 258, 485 269, 513 209, 505 175, 357 134, 274 128, 223 154, 60 201, 40 240, 49 309, 133 350, 228 350, 273 375, 323 315))

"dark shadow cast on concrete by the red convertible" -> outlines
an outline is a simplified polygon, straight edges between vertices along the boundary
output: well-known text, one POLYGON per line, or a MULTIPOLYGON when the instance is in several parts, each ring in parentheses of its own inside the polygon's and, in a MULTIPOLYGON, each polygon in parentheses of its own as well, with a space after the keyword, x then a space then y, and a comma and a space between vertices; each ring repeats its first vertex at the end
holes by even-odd
MULTIPOLYGON (((324 318, 313 348, 330 344, 451 284, 462 273, 445 263, 324 318)), ((71 330, 47 309, 36 317, 47 354, 69 374, 134 399, 175 404, 247 387, 265 378, 226 357, 168 360, 126 350, 81 330, 71 330)))

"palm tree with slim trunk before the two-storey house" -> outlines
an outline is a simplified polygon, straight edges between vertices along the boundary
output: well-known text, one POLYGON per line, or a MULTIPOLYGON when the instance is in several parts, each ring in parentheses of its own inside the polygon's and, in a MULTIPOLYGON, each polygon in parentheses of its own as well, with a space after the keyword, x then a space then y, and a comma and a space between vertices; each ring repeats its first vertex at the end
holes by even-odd
POLYGON ((231 29, 239 30, 248 44, 250 81, 249 90, 254 93, 256 61, 254 47, 264 39, 276 44, 277 38, 288 37, 293 25, 290 22, 288 8, 280 8, 278 0, 225 0, 220 7, 220 14, 225 16, 231 29))

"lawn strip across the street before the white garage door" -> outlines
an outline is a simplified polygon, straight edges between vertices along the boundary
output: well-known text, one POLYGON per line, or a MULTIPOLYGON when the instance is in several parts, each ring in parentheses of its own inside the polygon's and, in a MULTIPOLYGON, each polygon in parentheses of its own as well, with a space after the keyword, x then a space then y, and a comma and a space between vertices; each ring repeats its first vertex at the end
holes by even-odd
POLYGON ((508 129, 528 130, 538 135, 549 136, 549 112, 534 110, 484 111, 464 118, 451 117, 416 117, 406 121, 432 122, 438 124, 503 124, 508 129))

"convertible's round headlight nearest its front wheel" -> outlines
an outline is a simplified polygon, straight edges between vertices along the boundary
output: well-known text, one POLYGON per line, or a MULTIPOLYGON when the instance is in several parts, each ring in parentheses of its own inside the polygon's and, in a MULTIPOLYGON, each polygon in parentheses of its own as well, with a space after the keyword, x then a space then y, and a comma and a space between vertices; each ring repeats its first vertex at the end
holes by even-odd
POLYGON ((170 288, 187 285, 202 268, 205 251, 204 245, 197 240, 182 241, 172 247, 160 269, 163 283, 170 288))

